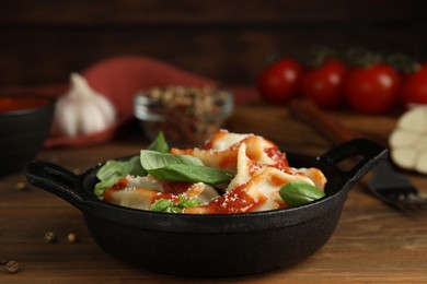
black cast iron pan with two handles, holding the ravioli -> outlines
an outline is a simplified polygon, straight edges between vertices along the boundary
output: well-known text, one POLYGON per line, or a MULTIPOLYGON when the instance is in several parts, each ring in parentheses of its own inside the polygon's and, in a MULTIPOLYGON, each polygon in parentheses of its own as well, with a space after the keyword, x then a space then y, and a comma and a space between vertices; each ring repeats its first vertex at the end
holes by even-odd
POLYGON ((97 245, 141 269, 187 276, 230 276, 293 265, 320 249, 332 236, 348 190, 386 149, 353 140, 312 158, 287 153, 293 167, 318 167, 327 178, 326 197, 291 209, 230 215, 186 215, 134 210, 99 200, 92 189, 96 170, 82 175, 57 165, 31 161, 31 185, 65 199, 82 211, 97 245), (337 165, 362 159, 349 170, 337 165))

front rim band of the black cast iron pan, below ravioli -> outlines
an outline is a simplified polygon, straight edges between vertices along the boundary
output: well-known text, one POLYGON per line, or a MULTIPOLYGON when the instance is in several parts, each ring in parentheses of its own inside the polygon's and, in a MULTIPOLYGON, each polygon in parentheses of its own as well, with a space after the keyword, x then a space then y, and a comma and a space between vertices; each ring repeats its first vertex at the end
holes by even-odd
MULTIPOLYGON (((333 194, 308 204, 251 213, 176 214, 152 212, 104 202, 93 193, 90 194, 91 200, 85 201, 88 206, 82 206, 81 211, 119 226, 143 230, 191 234, 261 232, 301 225, 331 211, 341 210, 341 205, 338 206, 334 199, 339 198, 339 193, 346 192, 345 186, 333 194), (101 210, 92 211, 91 203, 97 203, 102 206, 101 210), (120 217, 117 220, 117 216, 120 217), (227 228, 224 228, 226 226, 227 228)), ((339 202, 339 204, 342 203, 339 202)))

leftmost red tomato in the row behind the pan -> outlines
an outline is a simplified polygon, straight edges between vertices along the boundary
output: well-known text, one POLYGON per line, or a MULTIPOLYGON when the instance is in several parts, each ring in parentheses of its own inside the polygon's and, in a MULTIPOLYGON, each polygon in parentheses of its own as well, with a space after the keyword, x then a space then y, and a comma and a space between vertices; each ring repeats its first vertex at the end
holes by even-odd
POLYGON ((256 85, 259 95, 269 103, 286 104, 297 95, 301 79, 300 63, 284 58, 267 67, 259 74, 256 85))

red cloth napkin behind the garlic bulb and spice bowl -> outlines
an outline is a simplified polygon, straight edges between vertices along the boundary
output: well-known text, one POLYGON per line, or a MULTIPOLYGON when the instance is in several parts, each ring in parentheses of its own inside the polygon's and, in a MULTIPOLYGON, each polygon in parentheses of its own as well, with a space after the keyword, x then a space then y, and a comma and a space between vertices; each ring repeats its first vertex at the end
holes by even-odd
MULTIPOLYGON (((134 117, 135 94, 153 86, 220 86, 220 83, 163 61, 141 56, 119 56, 99 61, 80 72, 96 92, 105 95, 116 107, 118 119, 112 128, 91 135, 69 138, 50 134, 45 147, 85 146, 112 139, 116 130, 134 117)), ((68 91, 68 83, 37 86, 33 88, 10 88, 10 92, 47 94, 59 97, 68 91)), ((234 95, 235 104, 256 102, 258 94, 252 86, 222 86, 234 95)), ((1 104, 0 104, 1 105, 1 104)))

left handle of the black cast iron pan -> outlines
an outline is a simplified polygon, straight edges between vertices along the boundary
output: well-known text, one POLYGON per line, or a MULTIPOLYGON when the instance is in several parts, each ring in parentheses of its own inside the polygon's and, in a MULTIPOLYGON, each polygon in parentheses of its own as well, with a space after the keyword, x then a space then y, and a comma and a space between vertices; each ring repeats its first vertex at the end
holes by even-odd
POLYGON ((90 197, 78 185, 79 176, 49 162, 33 159, 25 165, 25 176, 30 185, 45 189, 72 205, 88 208, 90 197))

